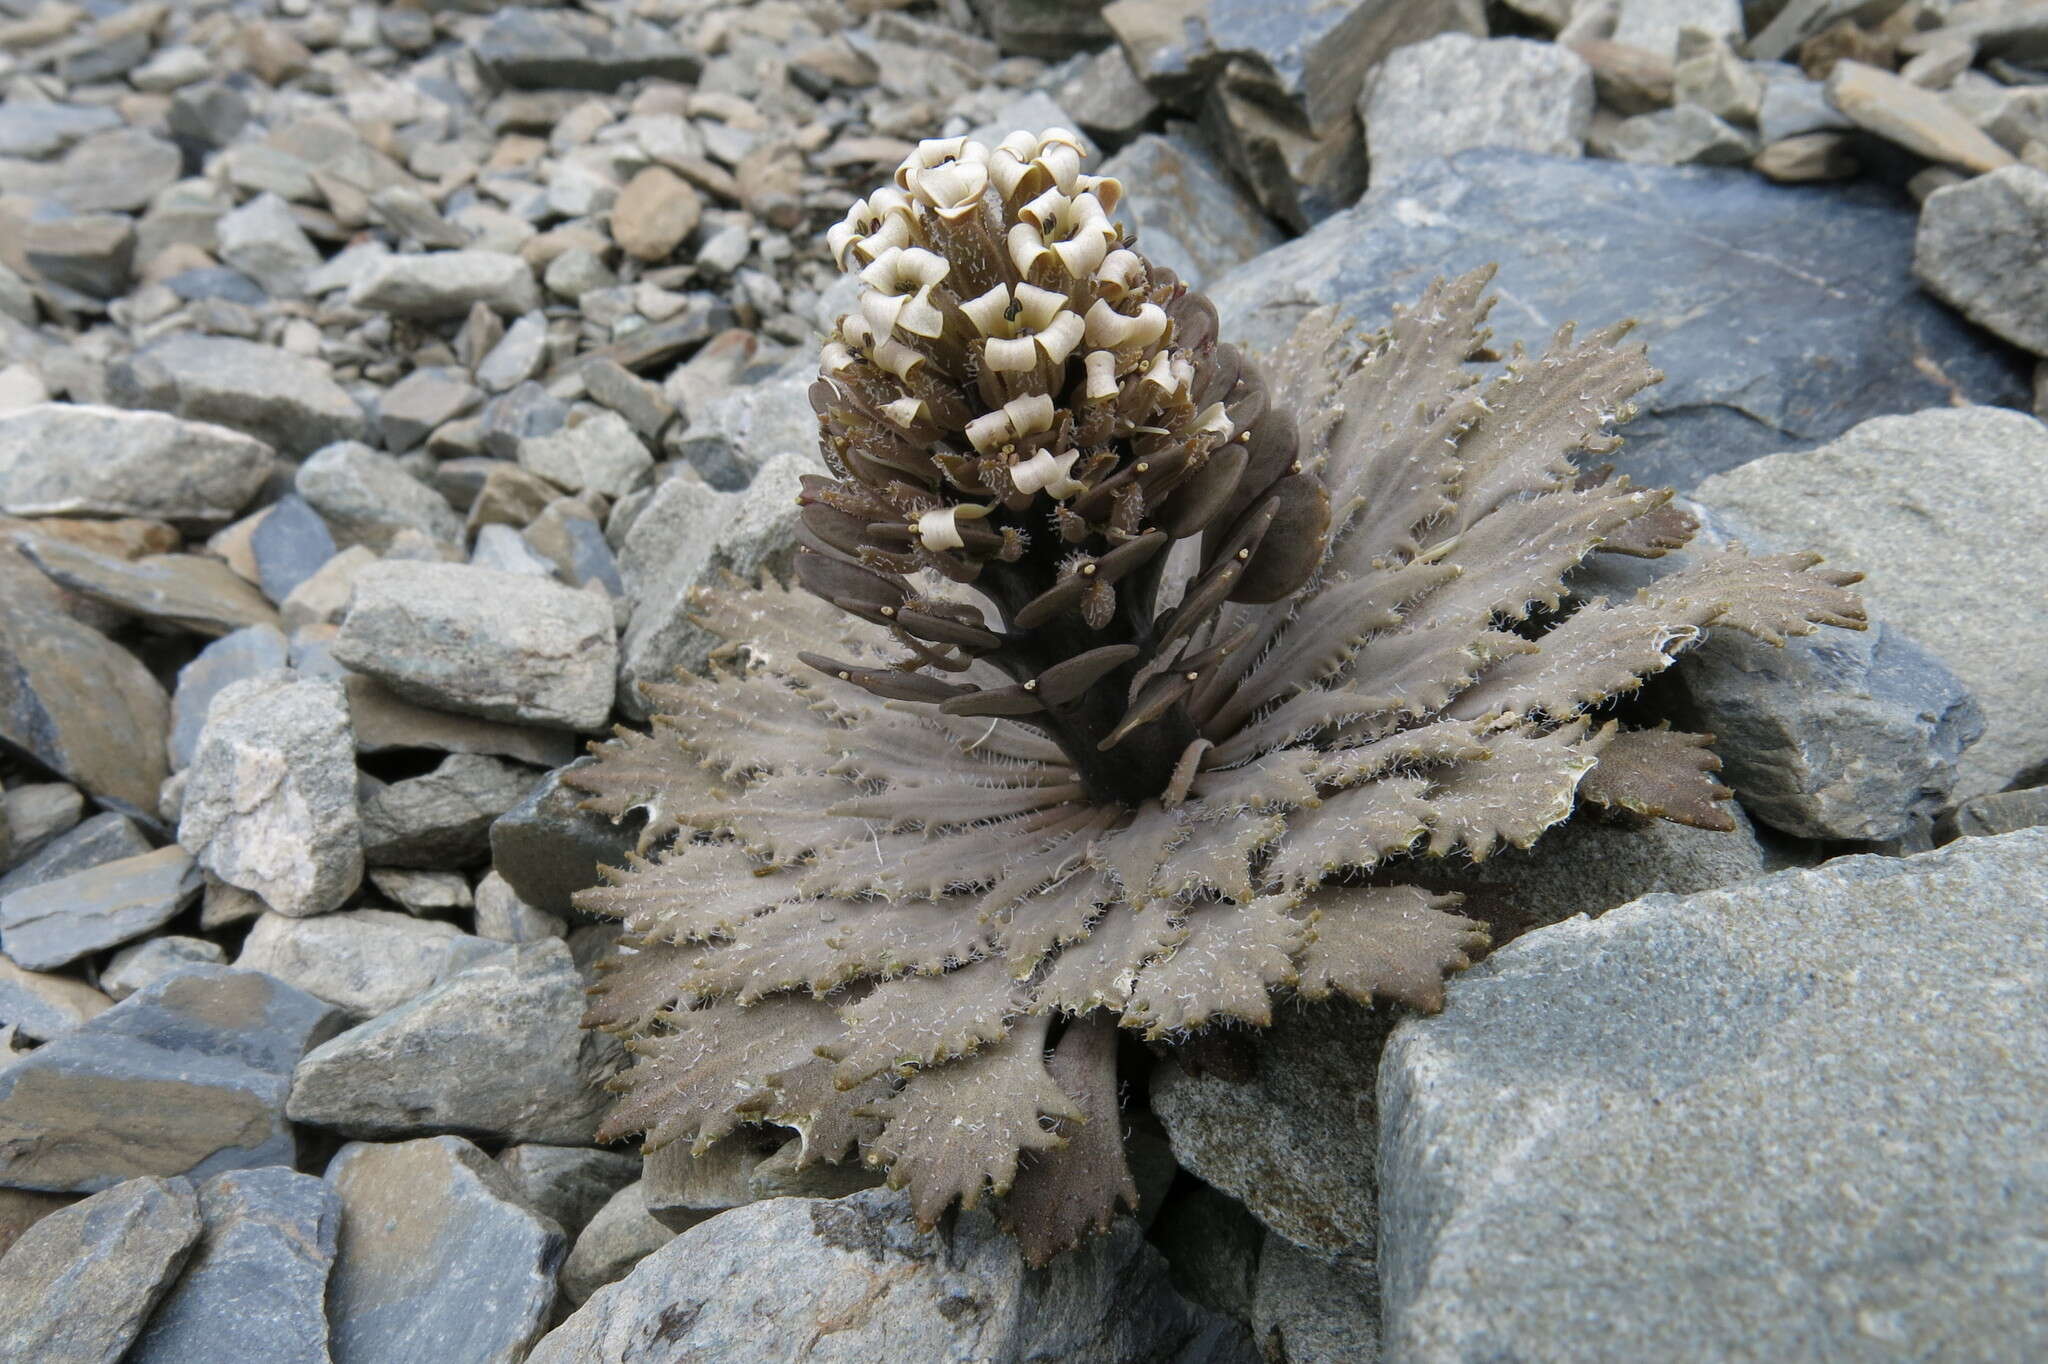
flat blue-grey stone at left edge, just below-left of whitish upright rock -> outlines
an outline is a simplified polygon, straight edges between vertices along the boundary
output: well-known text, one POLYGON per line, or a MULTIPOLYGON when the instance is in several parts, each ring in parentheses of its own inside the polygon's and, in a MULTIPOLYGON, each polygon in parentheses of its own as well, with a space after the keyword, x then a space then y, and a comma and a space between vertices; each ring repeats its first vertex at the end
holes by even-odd
POLYGON ((184 848, 158 848, 0 897, 0 944, 29 971, 53 971, 129 942, 199 899, 184 848))

